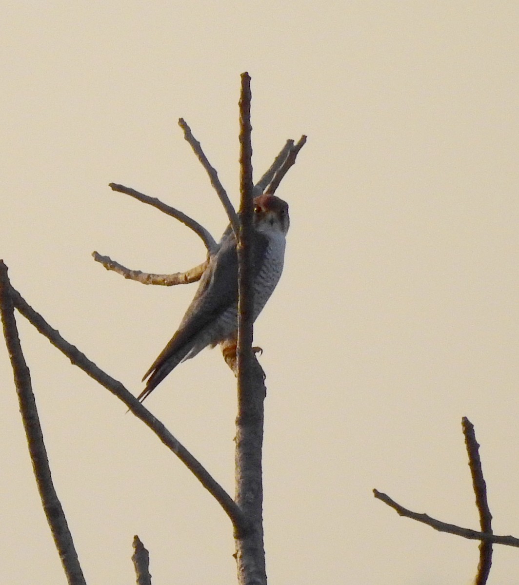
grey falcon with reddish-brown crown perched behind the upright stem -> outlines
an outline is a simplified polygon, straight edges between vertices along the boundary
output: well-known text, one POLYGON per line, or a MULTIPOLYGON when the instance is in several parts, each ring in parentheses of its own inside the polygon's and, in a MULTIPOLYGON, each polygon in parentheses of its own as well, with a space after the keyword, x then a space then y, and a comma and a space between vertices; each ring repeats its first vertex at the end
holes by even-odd
MULTIPOLYGON (((260 314, 283 271, 288 204, 274 195, 254 199, 252 257, 254 319, 260 314)), ((208 345, 232 342, 238 329, 238 256, 229 226, 219 249, 212 254, 177 332, 142 378, 142 402, 179 363, 191 359, 208 345)))

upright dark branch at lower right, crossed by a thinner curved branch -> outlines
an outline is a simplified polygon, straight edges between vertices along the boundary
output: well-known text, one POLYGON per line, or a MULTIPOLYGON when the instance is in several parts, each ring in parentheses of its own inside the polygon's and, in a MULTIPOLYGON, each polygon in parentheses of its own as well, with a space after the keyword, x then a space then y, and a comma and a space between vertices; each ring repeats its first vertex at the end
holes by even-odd
MULTIPOLYGON (((472 486, 476 494, 476 507, 479 512, 479 524, 481 531, 485 534, 492 534, 492 515, 487 500, 487 486, 483 477, 481 459, 479 457, 479 445, 476 441, 474 426, 467 417, 462 418, 463 435, 469 455, 470 474, 472 475, 472 486)), ((489 578, 490 567, 492 566, 492 543, 480 542, 479 564, 475 585, 485 585, 489 578)))

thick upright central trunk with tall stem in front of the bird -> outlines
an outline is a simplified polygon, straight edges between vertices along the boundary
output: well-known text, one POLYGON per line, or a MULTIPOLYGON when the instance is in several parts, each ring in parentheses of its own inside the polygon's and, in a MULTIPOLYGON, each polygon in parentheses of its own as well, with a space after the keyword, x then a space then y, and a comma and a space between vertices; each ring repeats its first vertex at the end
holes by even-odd
POLYGON ((251 530, 236 533, 236 564, 240 585, 266 585, 263 546, 263 371, 253 360, 252 333, 252 145, 250 140, 250 77, 242 74, 240 95, 240 230, 238 233, 238 417, 236 417, 235 500, 251 530))

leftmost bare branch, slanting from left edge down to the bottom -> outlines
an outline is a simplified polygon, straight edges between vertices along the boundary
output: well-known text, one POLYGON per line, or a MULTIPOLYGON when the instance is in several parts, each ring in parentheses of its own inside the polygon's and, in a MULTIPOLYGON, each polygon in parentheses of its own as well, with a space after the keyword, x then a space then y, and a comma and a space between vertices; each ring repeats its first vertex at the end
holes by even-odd
POLYGON ((32 391, 29 368, 23 357, 14 314, 12 287, 9 283, 8 269, 0 260, 0 312, 4 325, 5 342, 15 377, 16 393, 20 405, 23 426, 27 436, 29 455, 32 462, 36 484, 42 500, 43 510, 49 522, 54 543, 60 555, 67 581, 71 585, 85 585, 74 541, 68 529, 67 519, 61 507, 47 459, 43 432, 38 417, 35 397, 32 391))

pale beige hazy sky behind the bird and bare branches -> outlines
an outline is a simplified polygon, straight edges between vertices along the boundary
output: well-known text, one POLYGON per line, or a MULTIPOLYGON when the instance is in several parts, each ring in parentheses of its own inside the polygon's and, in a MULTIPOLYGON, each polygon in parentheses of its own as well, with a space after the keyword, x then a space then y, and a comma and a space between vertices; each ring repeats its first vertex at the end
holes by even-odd
MULTIPOLYGON (((226 225, 185 118, 238 201, 240 73, 256 178, 308 135, 277 194, 286 267, 255 328, 267 373, 270 583, 466 585, 477 542, 398 517, 372 489, 479 521, 460 421, 481 443, 496 534, 519 536, 519 4, 9 2, 0 22, 0 257, 47 321, 135 394, 196 285, 190 230, 108 188, 226 225)), ((104 388, 19 316, 57 493, 89 584, 235 582, 231 524, 104 388)), ((2 580, 66 583, 0 348, 2 580)), ((233 493, 234 378, 218 349, 147 400, 233 493)), ((516 585, 497 547, 489 583, 516 585)))

